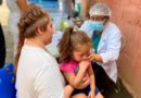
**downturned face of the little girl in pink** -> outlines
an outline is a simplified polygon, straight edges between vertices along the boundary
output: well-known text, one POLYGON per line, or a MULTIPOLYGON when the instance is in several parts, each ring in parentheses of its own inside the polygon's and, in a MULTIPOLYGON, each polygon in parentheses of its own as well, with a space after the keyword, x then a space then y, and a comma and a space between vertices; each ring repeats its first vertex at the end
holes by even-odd
POLYGON ((90 46, 88 45, 78 45, 76 49, 73 50, 73 59, 77 62, 88 60, 89 54, 90 54, 90 46))

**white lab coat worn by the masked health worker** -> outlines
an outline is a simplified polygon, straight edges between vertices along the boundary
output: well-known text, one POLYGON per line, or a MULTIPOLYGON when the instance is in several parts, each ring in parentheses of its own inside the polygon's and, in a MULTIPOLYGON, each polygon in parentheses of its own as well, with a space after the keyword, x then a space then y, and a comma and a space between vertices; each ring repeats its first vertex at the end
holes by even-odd
MULTIPOLYGON (((81 29, 82 30, 82 29, 81 29)), ((84 29, 88 33, 86 29, 84 29)), ((102 57, 100 65, 105 70, 106 74, 115 83, 117 81, 117 65, 116 61, 119 56, 120 46, 121 46, 121 34, 118 27, 108 22, 102 33, 97 53, 102 57)))

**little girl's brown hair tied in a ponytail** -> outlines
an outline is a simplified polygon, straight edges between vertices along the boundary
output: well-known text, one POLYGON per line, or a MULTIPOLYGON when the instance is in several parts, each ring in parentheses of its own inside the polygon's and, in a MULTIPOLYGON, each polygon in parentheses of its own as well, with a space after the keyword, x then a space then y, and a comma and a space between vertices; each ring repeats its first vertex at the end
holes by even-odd
POLYGON ((60 62, 69 61, 73 50, 76 49, 78 45, 88 45, 88 47, 91 47, 91 40, 86 33, 74 30, 74 27, 67 27, 57 45, 60 62))

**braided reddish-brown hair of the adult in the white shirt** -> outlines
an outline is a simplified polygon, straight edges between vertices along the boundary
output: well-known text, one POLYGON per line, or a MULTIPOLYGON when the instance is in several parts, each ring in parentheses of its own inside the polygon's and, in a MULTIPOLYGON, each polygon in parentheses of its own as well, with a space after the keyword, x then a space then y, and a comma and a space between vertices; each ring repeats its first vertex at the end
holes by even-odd
POLYGON ((20 36, 17 44, 17 53, 15 56, 15 70, 21 54, 22 47, 25 38, 34 38, 37 35, 37 28, 42 32, 47 29, 49 24, 49 15, 46 11, 35 4, 29 4, 28 10, 22 14, 18 23, 20 36))

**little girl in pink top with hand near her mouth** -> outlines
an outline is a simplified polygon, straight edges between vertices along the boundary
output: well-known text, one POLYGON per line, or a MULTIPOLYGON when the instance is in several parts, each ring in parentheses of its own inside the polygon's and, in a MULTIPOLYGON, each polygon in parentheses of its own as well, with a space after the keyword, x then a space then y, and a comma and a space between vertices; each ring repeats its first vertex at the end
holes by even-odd
MULTIPOLYGON (((91 62, 88 60, 91 50, 91 40, 86 33, 68 27, 65 29, 59 42, 60 69, 68 85, 65 98, 76 94, 82 94, 95 98, 99 90, 95 88, 94 74, 91 62), (84 81, 89 78, 90 85, 84 87, 84 81)), ((103 98, 99 93, 97 98, 103 98)))

